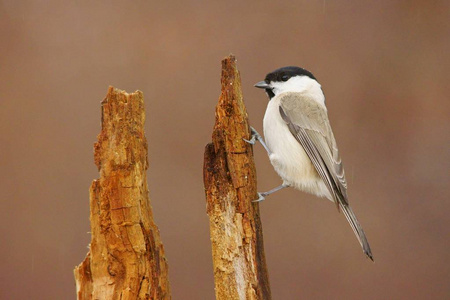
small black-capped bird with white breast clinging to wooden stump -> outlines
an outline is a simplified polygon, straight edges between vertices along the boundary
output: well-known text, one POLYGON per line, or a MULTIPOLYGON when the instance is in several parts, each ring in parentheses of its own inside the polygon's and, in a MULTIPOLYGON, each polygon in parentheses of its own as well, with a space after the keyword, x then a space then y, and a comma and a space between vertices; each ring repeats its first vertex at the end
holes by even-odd
POLYGON ((264 115, 264 137, 252 128, 252 137, 266 149, 285 187, 326 197, 344 212, 364 253, 373 261, 366 235, 347 199, 347 183, 338 148, 328 120, 325 96, 314 75, 299 67, 284 67, 267 74, 255 87, 265 89, 269 104, 264 115))

